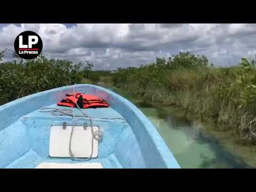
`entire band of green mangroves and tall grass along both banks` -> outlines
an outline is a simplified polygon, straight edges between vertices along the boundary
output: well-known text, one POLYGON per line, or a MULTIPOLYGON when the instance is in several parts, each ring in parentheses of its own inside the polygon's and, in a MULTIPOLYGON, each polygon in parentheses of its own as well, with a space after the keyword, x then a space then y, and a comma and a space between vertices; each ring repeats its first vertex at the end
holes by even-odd
POLYGON ((239 66, 214 67, 205 56, 180 52, 156 58, 138 68, 93 71, 89 61, 47 59, 3 62, 0 52, 0 105, 55 87, 74 83, 105 82, 129 90, 148 103, 177 106, 201 121, 212 121, 222 131, 233 130, 239 141, 250 140, 256 121, 255 59, 241 59, 239 66))

